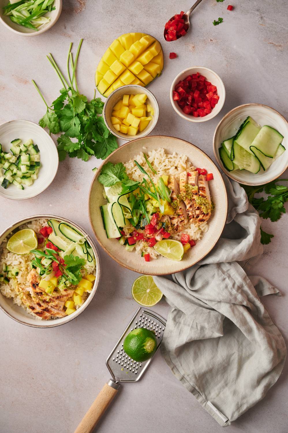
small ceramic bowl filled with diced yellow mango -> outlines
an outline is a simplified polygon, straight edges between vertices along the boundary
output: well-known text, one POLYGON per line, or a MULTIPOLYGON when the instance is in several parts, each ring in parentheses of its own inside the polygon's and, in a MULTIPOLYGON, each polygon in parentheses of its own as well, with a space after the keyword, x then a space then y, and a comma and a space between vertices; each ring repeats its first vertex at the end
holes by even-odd
POLYGON ((145 87, 126 85, 114 90, 103 109, 104 122, 114 136, 123 140, 146 137, 159 118, 155 96, 145 87))

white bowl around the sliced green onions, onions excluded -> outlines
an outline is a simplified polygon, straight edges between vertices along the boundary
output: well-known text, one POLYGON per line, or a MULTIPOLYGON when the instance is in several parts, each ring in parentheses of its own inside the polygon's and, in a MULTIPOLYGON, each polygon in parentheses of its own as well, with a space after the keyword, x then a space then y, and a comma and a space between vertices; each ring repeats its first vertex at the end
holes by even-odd
POLYGON ((40 27, 39 30, 36 32, 33 29, 27 29, 26 27, 13 23, 13 21, 11 21, 10 19, 10 16, 3 14, 3 7, 7 6, 8 3, 8 0, 0 0, 0 21, 7 29, 11 30, 11 32, 17 33, 20 36, 36 36, 41 35, 41 33, 47 32, 47 30, 51 29, 51 27, 54 26, 62 10, 62 0, 54 0, 55 10, 52 10, 52 12, 48 12, 45 15, 47 17, 51 16, 50 23, 47 23, 45 24, 45 26, 40 27))

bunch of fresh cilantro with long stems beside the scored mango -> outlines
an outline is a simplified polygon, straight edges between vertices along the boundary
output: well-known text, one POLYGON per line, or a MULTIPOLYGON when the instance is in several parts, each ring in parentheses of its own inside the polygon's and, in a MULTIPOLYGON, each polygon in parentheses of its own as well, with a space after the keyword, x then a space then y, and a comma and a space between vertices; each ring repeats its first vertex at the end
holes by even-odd
POLYGON ((48 128, 50 134, 63 132, 57 139, 60 161, 63 161, 67 154, 70 158, 77 157, 83 161, 88 161, 91 155, 105 159, 118 147, 116 137, 107 129, 101 116, 104 102, 100 98, 95 99, 95 91, 90 102, 79 92, 76 66, 82 41, 83 39, 79 43, 74 62, 71 53, 72 43, 70 44, 67 57, 68 80, 58 68, 52 54, 46 56, 64 86, 51 106, 46 103, 35 81, 32 80, 47 107, 46 113, 39 120, 39 125, 48 128))

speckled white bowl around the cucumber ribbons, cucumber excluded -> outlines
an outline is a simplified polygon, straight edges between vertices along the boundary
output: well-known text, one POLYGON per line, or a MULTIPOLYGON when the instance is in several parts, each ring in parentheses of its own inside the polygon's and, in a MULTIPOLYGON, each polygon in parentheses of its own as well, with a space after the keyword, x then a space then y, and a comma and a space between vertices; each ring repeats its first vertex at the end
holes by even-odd
POLYGON ((288 149, 287 120, 278 111, 267 105, 244 104, 233 108, 218 123, 213 137, 214 155, 221 169, 234 181, 244 185, 263 185, 277 179, 288 168, 288 150, 282 153, 268 170, 263 171, 261 168, 257 174, 247 170, 227 171, 219 157, 219 148, 223 140, 233 137, 247 116, 251 116, 260 126, 269 125, 277 129, 284 136, 282 145, 288 149))

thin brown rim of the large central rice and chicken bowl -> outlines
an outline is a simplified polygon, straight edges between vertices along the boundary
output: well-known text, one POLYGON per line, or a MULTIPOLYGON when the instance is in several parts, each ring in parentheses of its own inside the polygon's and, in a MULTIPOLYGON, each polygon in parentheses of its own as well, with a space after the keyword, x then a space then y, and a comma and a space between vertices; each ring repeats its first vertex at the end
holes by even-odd
MULTIPOLYGON (((92 223, 92 218, 91 218, 91 213, 90 213, 90 202, 91 202, 91 191, 92 191, 92 187, 93 187, 93 184, 94 184, 94 182, 96 181, 96 178, 99 176, 99 173, 100 173, 100 170, 101 170, 101 168, 103 167, 103 165, 104 164, 106 164, 106 161, 107 161, 107 159, 108 158, 110 158, 110 156, 112 156, 112 155, 114 155, 117 151, 118 151, 118 149, 120 149, 120 148, 122 148, 123 146, 125 147, 125 146, 127 146, 127 145, 129 145, 129 144, 131 144, 131 143, 133 143, 133 142, 135 142, 135 141, 139 141, 139 140, 142 140, 142 139, 144 139, 144 138, 146 138, 146 137, 141 137, 141 138, 138 138, 138 139, 135 139, 135 140, 131 140, 131 141, 129 141, 129 142, 127 142, 127 143, 124 143, 123 145, 121 145, 120 147, 118 147, 116 150, 114 150, 103 162, 102 162, 102 164, 100 165, 100 167, 97 169, 97 172, 94 174, 94 177, 93 177, 93 179, 92 179, 92 181, 91 181, 91 185, 90 185, 90 189, 89 189, 89 194, 88 194, 88 216, 89 216, 89 221, 90 221, 90 225, 91 225, 91 228, 92 228, 92 231, 93 231, 93 233, 94 233, 94 236, 96 237, 96 239, 97 239, 97 242, 100 244, 100 246, 104 249, 104 251, 111 257, 111 259, 113 259, 113 260, 115 260, 115 262, 117 262, 117 263, 119 263, 119 265, 121 265, 121 266, 123 266, 123 268, 126 268, 126 269, 129 269, 130 271, 133 271, 133 272, 135 272, 135 269, 133 269, 133 268, 131 268, 129 265, 127 265, 127 264, 124 264, 124 263, 122 263, 122 262, 120 262, 117 258, 114 258, 112 255, 111 255, 111 253, 107 250, 107 248, 102 244, 102 242, 100 241, 100 239, 99 239, 99 237, 97 236, 97 233, 96 233, 96 231, 95 231, 95 229, 94 229, 94 225, 93 225, 93 223, 92 223)), ((200 260, 202 260, 204 257, 206 257, 208 254, 209 254, 209 252, 214 248, 214 246, 217 244, 217 242, 218 242, 218 240, 220 239, 220 236, 221 236, 221 234, 222 234, 222 232, 223 232, 223 229, 224 229, 224 227, 225 227, 225 224, 226 224, 226 220, 227 220, 227 214, 228 214, 228 196, 227 196, 227 189, 226 189, 226 186, 225 186, 225 183, 224 183, 224 180, 223 180, 223 176, 222 176, 222 174, 221 174, 221 172, 220 172, 220 170, 219 170, 219 168, 217 167, 217 165, 215 164, 215 162, 210 158, 210 156, 208 156, 207 155, 207 153, 206 152, 204 152, 202 149, 200 149, 199 147, 197 147, 196 145, 194 145, 194 144, 192 144, 192 143, 190 143, 190 142, 188 142, 187 140, 183 140, 183 139, 181 139, 181 138, 178 138, 178 137, 173 137, 173 136, 164 136, 164 135, 157 135, 157 136, 149 136, 148 138, 165 138, 165 139, 167 139, 167 138, 172 138, 172 139, 176 139, 176 140, 180 140, 180 141, 182 141, 182 142, 185 142, 186 144, 188 144, 188 145, 190 145, 191 147, 194 147, 194 148, 196 148, 198 151, 200 151, 201 153, 203 153, 207 158, 209 158, 210 159, 210 161, 213 163, 213 165, 215 166, 215 168, 216 168, 216 170, 218 171, 218 173, 219 173, 219 175, 220 175, 220 179, 221 179, 221 181, 222 181, 222 184, 223 184, 223 189, 224 189, 224 192, 225 192, 225 209, 226 209, 226 212, 225 212, 225 218, 224 218, 224 222, 223 222, 223 226, 222 226, 222 228, 221 228, 221 230, 220 230, 220 232, 219 232, 219 236, 217 237, 217 239, 214 241, 214 243, 213 243, 213 245, 211 246, 211 248, 209 249, 209 251, 207 251, 204 255, 202 255, 201 257, 199 257, 199 259, 197 260, 197 262, 195 262, 194 264, 196 264, 196 263, 198 263, 198 262, 200 262, 200 260)), ((188 268, 190 268, 191 267, 191 265, 187 265, 187 266, 185 266, 184 268, 181 268, 181 269, 179 269, 179 271, 177 271, 177 272, 181 272, 181 271, 184 271, 185 269, 188 269, 188 268)), ((145 273, 145 274, 143 274, 143 275, 171 275, 171 274, 169 274, 169 273, 167 273, 167 272, 157 272, 157 273, 153 273, 153 272, 147 272, 147 273, 145 273)))

